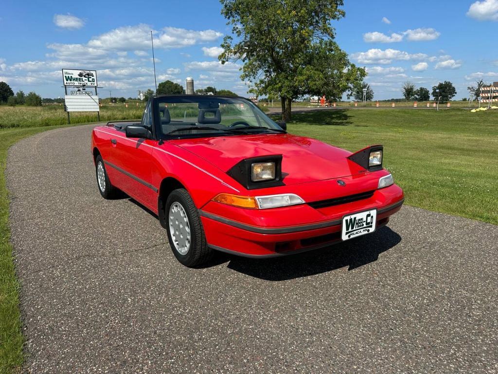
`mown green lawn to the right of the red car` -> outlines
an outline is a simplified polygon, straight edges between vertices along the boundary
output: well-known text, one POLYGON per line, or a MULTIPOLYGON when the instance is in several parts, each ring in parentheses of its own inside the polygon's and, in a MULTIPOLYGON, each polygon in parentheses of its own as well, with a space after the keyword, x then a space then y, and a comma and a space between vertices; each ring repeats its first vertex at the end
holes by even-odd
POLYGON ((498 224, 498 110, 332 110, 293 114, 288 131, 349 151, 384 146, 406 203, 498 224))

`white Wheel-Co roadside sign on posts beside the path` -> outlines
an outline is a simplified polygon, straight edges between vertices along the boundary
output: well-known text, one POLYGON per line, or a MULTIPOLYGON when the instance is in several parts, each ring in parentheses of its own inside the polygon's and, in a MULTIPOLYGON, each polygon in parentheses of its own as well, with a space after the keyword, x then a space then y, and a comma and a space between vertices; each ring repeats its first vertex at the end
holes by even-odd
POLYGON ((62 69, 62 80, 65 91, 64 110, 67 112, 68 124, 71 123, 69 112, 97 112, 97 119, 100 121, 97 71, 62 69), (90 90, 87 91, 87 88, 90 90))

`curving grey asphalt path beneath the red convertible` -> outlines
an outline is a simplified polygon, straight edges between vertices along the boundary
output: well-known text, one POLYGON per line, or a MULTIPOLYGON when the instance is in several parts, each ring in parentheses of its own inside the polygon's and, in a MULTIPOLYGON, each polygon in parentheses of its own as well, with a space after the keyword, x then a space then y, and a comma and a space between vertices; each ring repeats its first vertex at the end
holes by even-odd
POLYGON ((9 151, 26 372, 498 372, 498 226, 403 207, 356 242, 188 269, 101 198, 91 129, 9 151))

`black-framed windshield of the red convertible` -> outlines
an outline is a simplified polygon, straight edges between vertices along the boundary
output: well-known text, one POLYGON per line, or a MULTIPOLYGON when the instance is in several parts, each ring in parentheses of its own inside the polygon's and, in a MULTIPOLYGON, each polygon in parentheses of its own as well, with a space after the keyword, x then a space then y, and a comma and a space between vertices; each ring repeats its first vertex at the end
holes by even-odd
POLYGON ((155 103, 156 131, 164 139, 285 132, 242 98, 179 95, 158 97, 155 103))

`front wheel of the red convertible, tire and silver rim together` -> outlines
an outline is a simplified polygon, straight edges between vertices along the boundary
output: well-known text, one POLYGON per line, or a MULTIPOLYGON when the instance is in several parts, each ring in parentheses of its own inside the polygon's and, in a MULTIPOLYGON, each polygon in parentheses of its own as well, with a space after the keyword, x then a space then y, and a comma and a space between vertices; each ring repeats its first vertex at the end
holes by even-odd
POLYGON ((189 267, 207 262, 213 250, 206 243, 199 212, 186 189, 169 194, 164 213, 169 244, 178 261, 189 267))

